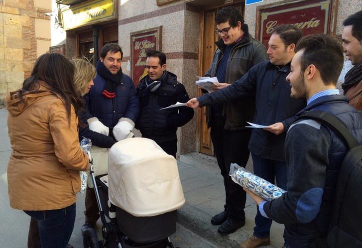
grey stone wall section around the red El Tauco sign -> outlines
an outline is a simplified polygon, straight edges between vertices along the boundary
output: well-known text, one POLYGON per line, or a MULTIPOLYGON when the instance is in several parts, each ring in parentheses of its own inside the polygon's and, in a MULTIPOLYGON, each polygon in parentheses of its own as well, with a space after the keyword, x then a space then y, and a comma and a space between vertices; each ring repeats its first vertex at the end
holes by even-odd
MULTIPOLYGON (((121 0, 119 8, 119 44, 123 49, 122 70, 130 61, 130 33, 162 25, 162 46, 167 70, 176 74, 190 97, 196 96, 199 53, 199 12, 184 1, 157 6, 156 1, 121 0), (142 5, 142 8, 139 6, 142 5)), ((196 113, 188 124, 178 128, 178 154, 196 149, 196 113)))

